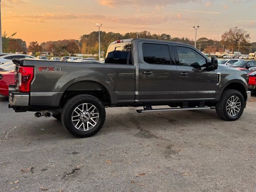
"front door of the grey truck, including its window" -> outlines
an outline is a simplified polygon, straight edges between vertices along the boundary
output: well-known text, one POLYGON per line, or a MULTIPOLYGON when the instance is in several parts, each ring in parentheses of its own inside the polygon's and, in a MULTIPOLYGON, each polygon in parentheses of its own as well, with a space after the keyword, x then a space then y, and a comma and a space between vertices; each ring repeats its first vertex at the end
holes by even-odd
POLYGON ((178 69, 176 100, 214 100, 217 71, 207 70, 207 62, 210 60, 192 47, 174 46, 174 50, 178 69))

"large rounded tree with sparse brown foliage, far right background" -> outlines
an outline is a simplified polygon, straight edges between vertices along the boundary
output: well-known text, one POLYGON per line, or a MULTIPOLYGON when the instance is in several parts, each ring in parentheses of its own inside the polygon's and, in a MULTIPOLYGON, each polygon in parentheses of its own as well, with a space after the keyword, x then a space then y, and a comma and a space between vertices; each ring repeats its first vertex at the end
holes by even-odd
POLYGON ((234 54, 234 47, 238 47, 238 44, 247 44, 250 34, 242 28, 234 27, 224 32, 221 38, 222 42, 226 43, 234 54))

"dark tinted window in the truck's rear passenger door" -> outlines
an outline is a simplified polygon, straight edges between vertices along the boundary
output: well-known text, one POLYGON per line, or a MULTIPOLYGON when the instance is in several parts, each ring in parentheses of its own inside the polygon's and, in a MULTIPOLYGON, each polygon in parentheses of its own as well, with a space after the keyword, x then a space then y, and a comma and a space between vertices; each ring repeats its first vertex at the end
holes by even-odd
POLYGON ((142 44, 143 59, 150 64, 170 65, 170 52, 168 45, 142 44))

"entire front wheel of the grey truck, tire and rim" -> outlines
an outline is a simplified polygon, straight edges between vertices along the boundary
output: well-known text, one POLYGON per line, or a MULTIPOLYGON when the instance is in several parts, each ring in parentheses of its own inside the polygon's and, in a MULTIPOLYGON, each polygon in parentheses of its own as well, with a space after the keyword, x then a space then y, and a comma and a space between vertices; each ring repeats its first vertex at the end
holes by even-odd
POLYGON ((238 120, 244 112, 244 97, 237 90, 224 90, 220 101, 216 104, 216 112, 223 120, 238 120))

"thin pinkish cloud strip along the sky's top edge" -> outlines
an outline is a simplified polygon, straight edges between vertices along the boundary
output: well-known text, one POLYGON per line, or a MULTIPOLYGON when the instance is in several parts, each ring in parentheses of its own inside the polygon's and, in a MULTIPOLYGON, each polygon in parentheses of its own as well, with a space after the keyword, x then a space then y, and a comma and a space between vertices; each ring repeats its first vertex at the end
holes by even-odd
POLYGON ((108 7, 118 6, 152 6, 166 7, 168 5, 188 2, 200 2, 201 0, 96 0, 99 4, 108 7))

